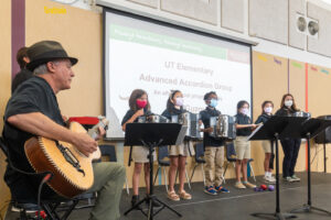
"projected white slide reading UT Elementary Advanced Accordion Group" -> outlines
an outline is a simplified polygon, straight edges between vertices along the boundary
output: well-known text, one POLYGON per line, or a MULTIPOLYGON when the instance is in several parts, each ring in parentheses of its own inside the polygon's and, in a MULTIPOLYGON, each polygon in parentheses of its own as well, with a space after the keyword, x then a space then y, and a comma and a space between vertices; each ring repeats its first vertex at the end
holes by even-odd
POLYGON ((184 108, 194 113, 205 108, 209 91, 217 92, 225 114, 235 114, 239 100, 250 102, 248 46, 124 15, 106 18, 107 138, 122 136, 120 121, 136 88, 148 92, 151 111, 159 114, 173 89, 183 92, 184 108))

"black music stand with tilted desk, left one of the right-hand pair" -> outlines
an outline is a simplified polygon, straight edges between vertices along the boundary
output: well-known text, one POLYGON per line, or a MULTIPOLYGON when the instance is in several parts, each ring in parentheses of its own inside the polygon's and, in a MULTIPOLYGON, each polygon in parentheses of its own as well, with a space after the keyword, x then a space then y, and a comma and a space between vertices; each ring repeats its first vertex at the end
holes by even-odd
POLYGON ((275 218, 279 220, 297 218, 292 213, 280 212, 279 200, 279 154, 278 154, 278 140, 282 131, 289 125, 289 123, 302 123, 307 118, 292 118, 292 117, 271 117, 265 124, 257 128, 248 140, 270 140, 276 142, 276 212, 275 213, 252 213, 258 218, 275 218))

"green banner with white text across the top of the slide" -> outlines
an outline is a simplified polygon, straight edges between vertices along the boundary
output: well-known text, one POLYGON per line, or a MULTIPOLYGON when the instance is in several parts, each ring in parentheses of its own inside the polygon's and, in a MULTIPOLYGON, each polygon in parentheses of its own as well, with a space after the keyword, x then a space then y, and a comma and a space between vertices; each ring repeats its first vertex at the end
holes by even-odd
POLYGON ((226 59, 227 50, 152 32, 110 24, 110 38, 226 59))

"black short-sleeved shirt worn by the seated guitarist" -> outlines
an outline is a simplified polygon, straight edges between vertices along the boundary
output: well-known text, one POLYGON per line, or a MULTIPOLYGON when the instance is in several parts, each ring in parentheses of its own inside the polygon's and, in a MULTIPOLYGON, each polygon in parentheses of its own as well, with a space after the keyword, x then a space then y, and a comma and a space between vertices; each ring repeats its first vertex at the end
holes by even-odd
MULTIPOLYGON (((15 114, 32 112, 40 112, 55 123, 65 125, 52 87, 45 79, 36 76, 17 88, 8 101, 3 117, 2 136, 8 145, 10 158, 17 168, 25 172, 33 172, 24 153, 24 143, 33 134, 11 125, 7 120, 15 114)), ((35 190, 40 179, 17 173, 8 166, 4 180, 10 187, 13 198, 21 201, 35 201, 35 190)))

